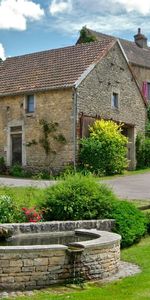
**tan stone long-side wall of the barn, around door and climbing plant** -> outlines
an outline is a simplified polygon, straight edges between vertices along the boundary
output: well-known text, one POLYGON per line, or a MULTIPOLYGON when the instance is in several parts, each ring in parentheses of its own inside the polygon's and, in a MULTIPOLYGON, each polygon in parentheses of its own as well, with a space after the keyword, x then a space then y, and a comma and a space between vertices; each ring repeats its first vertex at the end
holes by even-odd
POLYGON ((73 104, 72 90, 56 90, 35 94, 35 112, 27 114, 25 109, 25 95, 0 98, 0 156, 5 157, 7 164, 11 155, 9 144, 9 126, 22 125, 23 137, 23 165, 31 169, 44 169, 51 165, 59 169, 73 160, 73 104), (40 120, 57 122, 67 143, 55 143, 50 160, 46 157, 43 147, 39 144, 42 137, 40 120), (28 143, 35 140, 37 145, 28 147, 28 143), (50 162, 49 162, 50 161, 50 162))

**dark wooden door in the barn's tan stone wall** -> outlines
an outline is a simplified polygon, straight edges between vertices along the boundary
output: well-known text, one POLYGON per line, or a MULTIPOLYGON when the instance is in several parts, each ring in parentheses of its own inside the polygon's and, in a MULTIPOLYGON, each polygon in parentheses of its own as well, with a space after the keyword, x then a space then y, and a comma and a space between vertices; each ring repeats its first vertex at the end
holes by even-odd
POLYGON ((22 165, 22 134, 12 134, 12 165, 22 165))

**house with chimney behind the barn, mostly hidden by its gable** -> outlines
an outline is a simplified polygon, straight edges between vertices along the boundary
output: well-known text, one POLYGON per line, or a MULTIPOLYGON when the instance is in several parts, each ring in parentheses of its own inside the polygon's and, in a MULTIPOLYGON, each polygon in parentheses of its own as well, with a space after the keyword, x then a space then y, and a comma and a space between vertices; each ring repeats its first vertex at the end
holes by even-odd
MULTIPOLYGON (((85 37, 91 37, 94 41, 104 39, 115 40, 116 37, 96 32, 89 28, 83 27, 77 44, 83 43, 85 37)), ((122 50, 128 60, 134 76, 138 81, 143 96, 147 101, 150 100, 150 47, 147 44, 147 38, 138 28, 137 34, 134 35, 134 41, 119 38, 122 50)))

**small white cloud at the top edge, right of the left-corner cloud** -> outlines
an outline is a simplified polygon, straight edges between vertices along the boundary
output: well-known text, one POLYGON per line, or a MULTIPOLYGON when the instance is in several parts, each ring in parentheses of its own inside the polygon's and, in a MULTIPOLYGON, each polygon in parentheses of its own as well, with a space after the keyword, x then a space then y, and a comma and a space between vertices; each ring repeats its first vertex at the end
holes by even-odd
POLYGON ((60 13, 68 13, 72 10, 72 1, 52 0, 49 10, 52 16, 55 16, 60 13))

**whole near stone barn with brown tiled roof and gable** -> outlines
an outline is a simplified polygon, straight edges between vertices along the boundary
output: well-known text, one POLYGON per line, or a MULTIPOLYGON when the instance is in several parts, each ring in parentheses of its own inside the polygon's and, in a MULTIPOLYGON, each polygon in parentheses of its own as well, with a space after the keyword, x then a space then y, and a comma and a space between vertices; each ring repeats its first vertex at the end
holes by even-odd
POLYGON ((79 139, 95 118, 124 123, 130 168, 146 103, 118 40, 7 58, 0 63, 0 156, 11 166, 61 169, 77 163, 79 139), (43 136, 41 121, 57 124, 43 136), (50 136, 49 136, 50 133, 50 136), (58 134, 66 143, 61 144, 58 134), (50 153, 45 145, 51 140, 50 153))

